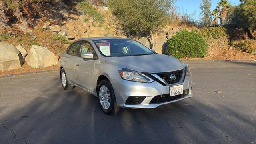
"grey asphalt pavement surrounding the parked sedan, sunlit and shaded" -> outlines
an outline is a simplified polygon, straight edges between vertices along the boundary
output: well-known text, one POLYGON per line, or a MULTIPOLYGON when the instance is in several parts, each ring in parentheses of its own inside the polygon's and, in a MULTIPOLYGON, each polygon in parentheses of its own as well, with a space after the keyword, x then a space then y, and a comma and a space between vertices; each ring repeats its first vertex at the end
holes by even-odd
POLYGON ((0 78, 0 143, 255 144, 256 63, 185 62, 193 98, 112 116, 95 96, 64 90, 57 71, 0 78))

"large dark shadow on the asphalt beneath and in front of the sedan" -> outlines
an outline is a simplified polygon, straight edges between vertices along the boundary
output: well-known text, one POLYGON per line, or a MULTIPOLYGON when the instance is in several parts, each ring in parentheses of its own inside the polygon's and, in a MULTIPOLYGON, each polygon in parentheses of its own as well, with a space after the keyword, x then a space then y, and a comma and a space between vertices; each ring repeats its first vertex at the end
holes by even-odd
MULTIPOLYGON (((193 98, 158 108, 122 108, 118 114, 109 116, 100 110, 92 94, 78 88, 63 90, 59 77, 54 77, 38 93, 40 96, 26 106, 1 117, 1 122, 14 129, 17 137, 26 138, 31 144, 253 141, 253 133, 234 134, 240 132, 241 124, 252 130, 255 122, 226 106, 216 108, 193 98), (228 116, 222 115, 222 110, 228 116)), ((2 107, 1 111, 5 110, 2 107)))

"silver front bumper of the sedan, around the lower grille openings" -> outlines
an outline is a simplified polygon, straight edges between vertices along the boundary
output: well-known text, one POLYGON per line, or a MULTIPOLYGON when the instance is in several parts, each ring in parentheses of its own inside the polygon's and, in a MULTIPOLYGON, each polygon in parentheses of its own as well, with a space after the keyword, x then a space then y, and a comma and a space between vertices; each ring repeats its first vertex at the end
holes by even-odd
POLYGON ((189 93, 185 97, 157 104, 150 104, 150 101, 155 96, 169 94, 170 86, 164 86, 156 81, 152 83, 131 82, 123 79, 111 79, 110 81, 114 87, 117 105, 123 108, 156 108, 163 104, 169 104, 185 98, 192 98, 193 96, 191 75, 185 76, 184 82, 172 85, 177 86, 182 84, 183 90, 188 89, 189 93), (146 98, 140 104, 125 104, 129 96, 146 96, 146 98))

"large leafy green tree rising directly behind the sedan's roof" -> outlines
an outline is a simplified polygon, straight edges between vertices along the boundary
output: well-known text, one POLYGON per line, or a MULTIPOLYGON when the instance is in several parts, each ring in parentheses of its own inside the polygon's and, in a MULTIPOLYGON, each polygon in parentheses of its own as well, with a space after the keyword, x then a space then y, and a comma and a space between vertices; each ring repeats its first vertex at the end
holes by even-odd
POLYGON ((162 29, 173 0, 109 0, 126 35, 148 37, 162 29))

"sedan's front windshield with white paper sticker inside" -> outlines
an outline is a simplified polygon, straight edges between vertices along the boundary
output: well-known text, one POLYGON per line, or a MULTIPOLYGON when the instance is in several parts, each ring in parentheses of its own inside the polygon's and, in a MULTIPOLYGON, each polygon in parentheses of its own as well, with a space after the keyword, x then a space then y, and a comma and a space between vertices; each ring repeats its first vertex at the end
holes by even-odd
POLYGON ((103 56, 141 56, 154 54, 149 48, 128 39, 94 40, 103 56))

